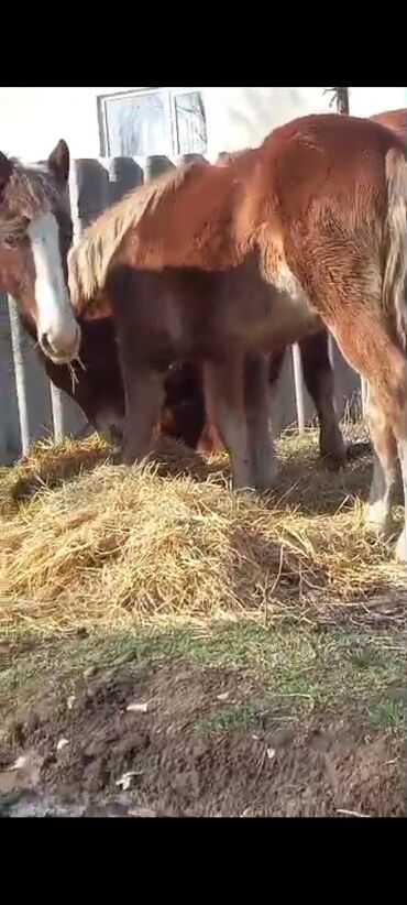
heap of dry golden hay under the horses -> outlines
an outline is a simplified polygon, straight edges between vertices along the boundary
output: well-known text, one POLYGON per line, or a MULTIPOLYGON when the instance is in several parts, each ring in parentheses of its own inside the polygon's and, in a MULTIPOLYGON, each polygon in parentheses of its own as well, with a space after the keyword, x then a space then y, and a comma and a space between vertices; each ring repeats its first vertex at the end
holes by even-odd
POLYGON ((206 461, 170 441, 144 470, 109 465, 97 438, 36 447, 0 483, 0 626, 57 633, 298 612, 329 621, 373 609, 384 592, 397 611, 405 567, 363 532, 355 501, 370 460, 330 476, 315 441, 279 445, 279 487, 261 499, 230 491, 224 457, 206 461), (21 487, 34 495, 19 501, 21 487))

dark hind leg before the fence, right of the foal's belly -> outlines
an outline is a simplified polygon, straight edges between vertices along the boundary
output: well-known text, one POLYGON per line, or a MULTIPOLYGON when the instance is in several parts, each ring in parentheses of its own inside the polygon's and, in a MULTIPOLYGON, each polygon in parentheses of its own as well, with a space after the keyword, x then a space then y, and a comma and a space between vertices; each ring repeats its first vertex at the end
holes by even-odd
POLYGON ((299 342, 304 380, 319 421, 320 454, 332 471, 344 465, 346 450, 334 405, 334 377, 329 359, 328 332, 321 330, 299 342))

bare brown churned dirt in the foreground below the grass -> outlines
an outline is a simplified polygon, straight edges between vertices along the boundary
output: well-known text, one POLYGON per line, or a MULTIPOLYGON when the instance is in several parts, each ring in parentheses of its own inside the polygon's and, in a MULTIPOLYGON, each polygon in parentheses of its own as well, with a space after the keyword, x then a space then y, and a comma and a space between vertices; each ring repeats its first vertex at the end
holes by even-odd
POLYGON ((3 733, 0 814, 406 816, 399 739, 356 712, 253 707, 263 691, 244 672, 168 657, 86 673, 75 694, 45 687, 3 733))

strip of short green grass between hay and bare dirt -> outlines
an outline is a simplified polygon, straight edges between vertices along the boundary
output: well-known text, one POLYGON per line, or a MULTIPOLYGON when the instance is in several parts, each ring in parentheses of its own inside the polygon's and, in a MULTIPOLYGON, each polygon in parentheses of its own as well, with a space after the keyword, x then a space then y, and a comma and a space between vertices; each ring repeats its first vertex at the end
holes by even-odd
MULTIPOLYGON (((385 701, 391 687, 402 687, 405 675, 403 636, 396 632, 321 632, 304 625, 264 628, 242 621, 200 631, 184 628, 91 634, 45 641, 25 653, 19 653, 16 645, 0 669, 0 718, 14 710, 16 700, 26 705, 43 695, 44 688, 57 697, 86 680, 90 672, 131 672, 156 658, 179 658, 191 667, 244 670, 258 683, 256 700, 237 700, 235 707, 217 709, 213 717, 209 715, 205 731, 249 724, 268 706, 274 712, 304 718, 322 711, 337 717, 358 710, 384 728, 393 705, 386 710, 387 705, 375 701, 385 701)), ((395 712, 398 710, 399 702, 395 712)))

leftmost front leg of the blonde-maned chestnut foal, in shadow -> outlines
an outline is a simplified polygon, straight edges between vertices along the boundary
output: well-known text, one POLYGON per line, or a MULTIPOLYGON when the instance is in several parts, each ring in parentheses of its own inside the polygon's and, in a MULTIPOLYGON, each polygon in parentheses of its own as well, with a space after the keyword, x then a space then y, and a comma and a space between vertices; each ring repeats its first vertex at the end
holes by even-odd
POLYGON ((148 366, 132 368, 125 386, 122 462, 141 461, 150 451, 153 428, 164 400, 165 374, 148 366))

